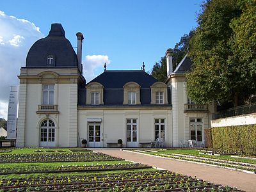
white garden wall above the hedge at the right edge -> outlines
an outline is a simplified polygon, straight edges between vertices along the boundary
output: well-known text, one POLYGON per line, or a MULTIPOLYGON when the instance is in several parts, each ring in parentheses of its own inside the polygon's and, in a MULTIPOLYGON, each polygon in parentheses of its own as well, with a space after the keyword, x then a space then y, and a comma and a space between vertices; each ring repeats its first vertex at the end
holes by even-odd
POLYGON ((227 118, 211 120, 211 127, 226 127, 232 125, 251 125, 256 124, 256 113, 250 115, 239 115, 227 118))

